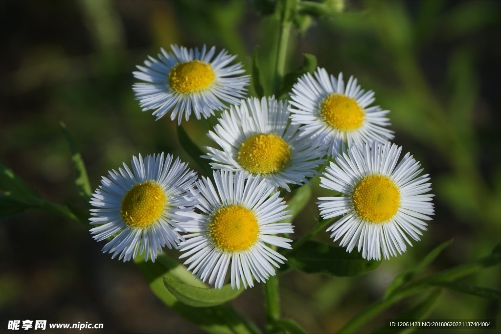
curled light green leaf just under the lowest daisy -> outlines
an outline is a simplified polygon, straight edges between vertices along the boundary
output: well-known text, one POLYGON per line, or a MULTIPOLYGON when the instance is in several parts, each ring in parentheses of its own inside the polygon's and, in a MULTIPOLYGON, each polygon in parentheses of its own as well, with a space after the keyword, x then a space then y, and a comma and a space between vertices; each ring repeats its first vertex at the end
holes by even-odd
POLYGON ((244 290, 243 288, 232 289, 230 284, 225 284, 220 289, 197 287, 167 277, 164 277, 163 283, 177 300, 193 307, 223 304, 236 298, 244 290))

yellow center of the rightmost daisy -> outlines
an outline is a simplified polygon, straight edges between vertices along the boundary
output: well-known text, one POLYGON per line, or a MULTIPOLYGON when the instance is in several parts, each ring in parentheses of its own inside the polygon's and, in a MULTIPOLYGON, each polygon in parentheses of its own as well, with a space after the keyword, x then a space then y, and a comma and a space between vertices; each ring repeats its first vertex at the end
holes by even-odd
POLYGON ((364 220, 382 223, 397 213, 400 190, 387 176, 368 175, 355 187, 353 204, 364 220))

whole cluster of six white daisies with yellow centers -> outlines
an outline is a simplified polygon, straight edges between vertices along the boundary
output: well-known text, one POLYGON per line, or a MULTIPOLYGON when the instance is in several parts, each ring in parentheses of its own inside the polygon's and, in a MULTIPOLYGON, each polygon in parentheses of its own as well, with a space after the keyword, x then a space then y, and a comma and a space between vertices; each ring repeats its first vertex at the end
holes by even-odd
POLYGON ((172 46, 149 57, 134 76, 140 106, 157 119, 170 113, 178 124, 218 113, 205 147, 212 179, 197 178, 170 154, 133 157, 103 177, 92 194, 91 229, 103 252, 128 261, 144 253, 154 261, 162 247, 177 248, 202 281, 220 288, 228 269, 231 286, 254 285, 275 275, 291 248, 293 226, 280 190, 309 183, 338 196, 320 197, 324 219, 340 217, 327 231, 348 251, 367 259, 395 256, 419 240, 433 214, 427 175, 401 147, 388 142, 388 110, 371 106, 372 91, 350 77, 317 69, 294 85, 290 101, 242 99, 248 76, 235 56, 205 46, 172 46), (227 108, 229 104, 229 108, 227 108), (226 109, 226 110, 224 110, 226 109), (330 165, 322 170, 326 160, 330 165), (335 161, 335 162, 334 162, 335 161))

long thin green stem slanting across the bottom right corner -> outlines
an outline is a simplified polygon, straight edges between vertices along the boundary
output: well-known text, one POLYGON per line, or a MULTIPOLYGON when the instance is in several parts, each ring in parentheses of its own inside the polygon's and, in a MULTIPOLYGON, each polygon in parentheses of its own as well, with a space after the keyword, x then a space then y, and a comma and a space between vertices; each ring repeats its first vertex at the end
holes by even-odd
POLYGON ((353 333, 357 328, 363 325, 365 322, 372 319, 379 312, 390 307, 397 301, 410 296, 416 292, 419 292, 428 287, 435 286, 435 282, 452 279, 465 276, 467 274, 473 273, 478 269, 488 267, 499 263, 499 254, 491 254, 485 256, 481 259, 464 263, 447 270, 443 270, 436 274, 430 275, 428 277, 416 280, 408 285, 401 286, 397 288, 390 296, 386 299, 379 299, 372 305, 367 307, 364 311, 356 315, 350 321, 348 321, 339 331, 338 334, 348 334, 353 333))

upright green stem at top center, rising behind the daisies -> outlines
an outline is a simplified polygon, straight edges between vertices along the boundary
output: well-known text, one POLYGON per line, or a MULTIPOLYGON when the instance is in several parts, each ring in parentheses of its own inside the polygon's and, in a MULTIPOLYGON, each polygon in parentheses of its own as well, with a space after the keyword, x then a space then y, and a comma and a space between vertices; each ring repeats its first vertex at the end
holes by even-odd
POLYGON ((277 48, 277 62, 275 64, 275 77, 273 91, 278 97, 280 83, 285 74, 285 64, 287 60, 287 45, 292 28, 292 19, 296 11, 297 0, 282 0, 282 13, 280 20, 279 41, 277 48))

